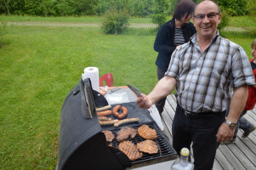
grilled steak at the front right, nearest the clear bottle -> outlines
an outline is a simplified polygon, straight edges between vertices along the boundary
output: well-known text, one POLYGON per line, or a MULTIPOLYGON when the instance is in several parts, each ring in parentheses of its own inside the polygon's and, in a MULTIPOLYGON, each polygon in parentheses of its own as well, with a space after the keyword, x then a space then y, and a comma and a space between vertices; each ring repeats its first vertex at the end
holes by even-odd
POLYGON ((137 148, 139 151, 149 153, 149 154, 156 154, 158 152, 158 146, 155 141, 146 139, 143 142, 139 142, 137 144, 137 148))

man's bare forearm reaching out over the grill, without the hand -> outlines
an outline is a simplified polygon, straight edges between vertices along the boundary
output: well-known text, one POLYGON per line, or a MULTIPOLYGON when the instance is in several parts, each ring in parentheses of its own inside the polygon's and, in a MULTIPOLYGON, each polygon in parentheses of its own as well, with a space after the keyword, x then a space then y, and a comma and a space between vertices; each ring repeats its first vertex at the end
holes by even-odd
POLYGON ((174 90, 176 82, 177 81, 174 77, 162 77, 162 79, 157 82, 156 87, 148 95, 152 103, 156 103, 156 101, 170 94, 174 90))

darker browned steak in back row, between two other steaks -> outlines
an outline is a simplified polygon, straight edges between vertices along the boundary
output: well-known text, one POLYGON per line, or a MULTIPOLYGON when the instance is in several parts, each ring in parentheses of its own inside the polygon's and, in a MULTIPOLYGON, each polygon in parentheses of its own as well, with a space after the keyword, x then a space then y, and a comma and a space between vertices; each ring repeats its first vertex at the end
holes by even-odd
POLYGON ((122 127, 117 132, 117 141, 122 142, 123 140, 126 140, 128 138, 133 139, 137 134, 137 130, 133 127, 122 127))

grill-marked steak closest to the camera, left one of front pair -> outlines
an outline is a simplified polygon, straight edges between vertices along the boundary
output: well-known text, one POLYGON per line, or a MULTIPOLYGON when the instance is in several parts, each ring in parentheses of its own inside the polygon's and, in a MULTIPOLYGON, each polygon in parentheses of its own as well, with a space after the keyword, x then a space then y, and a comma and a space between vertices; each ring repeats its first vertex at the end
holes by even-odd
POLYGON ((143 155, 132 141, 122 141, 118 144, 118 149, 125 153, 131 161, 135 161, 143 155))

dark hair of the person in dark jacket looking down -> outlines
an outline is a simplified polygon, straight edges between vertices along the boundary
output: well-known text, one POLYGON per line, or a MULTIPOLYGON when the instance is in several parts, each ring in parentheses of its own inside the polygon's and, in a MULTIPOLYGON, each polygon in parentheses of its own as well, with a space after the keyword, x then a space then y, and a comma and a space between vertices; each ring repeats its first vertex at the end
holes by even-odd
POLYGON ((193 13, 195 8, 195 3, 191 0, 181 0, 174 11, 174 18, 176 20, 181 20, 185 15, 185 19, 193 13))

